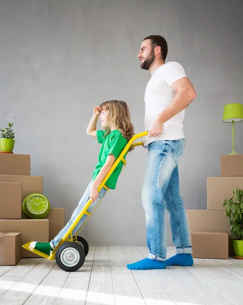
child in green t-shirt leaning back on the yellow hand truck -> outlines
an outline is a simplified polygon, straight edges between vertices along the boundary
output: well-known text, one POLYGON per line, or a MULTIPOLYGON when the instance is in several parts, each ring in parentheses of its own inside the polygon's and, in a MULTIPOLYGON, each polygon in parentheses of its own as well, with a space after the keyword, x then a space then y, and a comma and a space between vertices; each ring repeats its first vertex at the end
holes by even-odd
MULTIPOLYGON (((53 240, 51 240, 51 242, 33 241, 30 243, 32 248, 48 255, 51 254, 66 231, 70 228, 89 198, 91 199, 92 203, 88 208, 88 212, 92 212, 102 197, 105 196, 107 190, 102 188, 98 193, 97 188, 111 169, 113 163, 120 155, 127 142, 134 135, 134 128, 131 124, 130 112, 127 104, 123 101, 114 100, 104 102, 99 106, 95 106, 94 114, 90 120, 86 132, 88 135, 97 138, 98 142, 102 144, 99 152, 98 163, 94 169, 93 177, 90 184, 88 185, 88 188, 81 198, 77 208, 73 212, 70 221, 68 221, 66 226, 53 240), (105 131, 96 130, 98 118, 100 118, 101 126, 105 131)), ((129 148, 129 151, 132 149, 133 146, 129 148)), ((122 166, 123 162, 121 161, 107 180, 106 186, 108 188, 113 190, 115 189, 118 176, 122 170, 122 166)), ((86 218, 87 215, 84 215, 81 218, 73 230, 73 234, 78 232, 86 218)))

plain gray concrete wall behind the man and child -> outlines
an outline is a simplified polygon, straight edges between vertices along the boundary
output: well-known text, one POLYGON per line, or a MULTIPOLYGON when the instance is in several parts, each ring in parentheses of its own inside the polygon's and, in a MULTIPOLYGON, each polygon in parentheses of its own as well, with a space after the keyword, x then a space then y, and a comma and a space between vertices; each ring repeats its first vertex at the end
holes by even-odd
MULTIPOLYGON (((206 177, 220 176, 231 151, 224 105, 242 103, 243 3, 240 0, 0 1, 0 127, 14 122, 15 153, 31 155, 31 175, 44 176, 52 207, 72 215, 97 161, 86 135, 93 106, 125 100, 136 132, 143 131, 150 78, 136 58, 143 38, 168 41, 197 99, 184 120, 181 194, 186 208, 206 208, 206 177)), ((243 153, 243 123, 235 126, 243 153)), ((90 245, 146 245, 141 190, 147 150, 137 147, 116 191, 84 228, 90 245)), ((166 220, 167 221, 167 220, 166 220)), ((172 245, 167 221, 167 243, 172 245)))

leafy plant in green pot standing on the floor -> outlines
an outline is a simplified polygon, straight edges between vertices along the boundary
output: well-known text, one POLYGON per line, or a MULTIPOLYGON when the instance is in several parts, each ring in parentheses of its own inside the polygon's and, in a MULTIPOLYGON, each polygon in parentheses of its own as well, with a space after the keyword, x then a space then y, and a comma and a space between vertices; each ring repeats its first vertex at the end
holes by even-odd
POLYGON ((233 190, 234 196, 224 200, 224 216, 230 220, 230 232, 236 258, 243 259, 243 190, 233 190))

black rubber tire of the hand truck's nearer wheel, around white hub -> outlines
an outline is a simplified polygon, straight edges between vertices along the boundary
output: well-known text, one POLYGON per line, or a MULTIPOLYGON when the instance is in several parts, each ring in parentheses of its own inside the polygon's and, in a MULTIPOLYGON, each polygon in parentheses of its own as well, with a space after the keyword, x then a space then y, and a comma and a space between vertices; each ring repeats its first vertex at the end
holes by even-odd
POLYGON ((57 265, 64 271, 67 272, 73 272, 73 271, 77 271, 78 269, 80 269, 85 261, 85 252, 84 249, 81 245, 79 245, 79 243, 74 242, 74 241, 67 241, 64 242, 56 251, 56 255, 55 255, 55 259, 56 259, 56 263, 57 265), (66 248, 73 248, 73 250, 79 253, 79 260, 77 261, 77 263, 74 266, 67 266, 65 264, 63 264, 63 262, 61 261, 61 254, 63 251, 65 251, 66 248))

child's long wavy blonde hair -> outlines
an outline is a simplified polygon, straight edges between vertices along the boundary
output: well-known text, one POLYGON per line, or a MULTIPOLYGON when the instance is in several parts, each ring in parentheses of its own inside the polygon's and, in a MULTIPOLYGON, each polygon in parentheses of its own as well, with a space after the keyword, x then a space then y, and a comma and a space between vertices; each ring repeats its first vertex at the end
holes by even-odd
MULTIPOLYGON (((134 136, 134 127, 131 124, 131 116, 129 108, 124 101, 107 101, 103 102, 99 105, 101 109, 105 109, 108 111, 108 117, 110 120, 110 125, 115 127, 117 130, 119 130, 123 137, 129 141, 134 136)), ((106 129, 107 133, 105 136, 107 136, 111 129, 106 129)), ((131 145, 129 148, 129 151, 133 150, 134 146, 131 145)))

